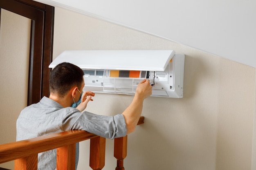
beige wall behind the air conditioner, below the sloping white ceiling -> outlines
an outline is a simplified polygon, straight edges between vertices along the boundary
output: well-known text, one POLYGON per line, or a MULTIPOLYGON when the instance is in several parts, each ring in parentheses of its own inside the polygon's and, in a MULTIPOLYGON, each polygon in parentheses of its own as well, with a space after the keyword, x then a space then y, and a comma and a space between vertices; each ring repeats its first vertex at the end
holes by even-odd
MULTIPOLYGON (((145 124, 128 136, 126 170, 252 169, 255 68, 55 8, 54 58, 64 50, 104 49, 173 49, 186 55, 184 98, 149 97, 144 101, 145 124)), ((96 94, 87 110, 115 115, 131 100, 129 95, 96 94)), ((115 169, 113 141, 109 139, 106 155, 104 169, 115 169)), ((78 170, 90 169, 88 157, 89 141, 83 141, 78 170)))

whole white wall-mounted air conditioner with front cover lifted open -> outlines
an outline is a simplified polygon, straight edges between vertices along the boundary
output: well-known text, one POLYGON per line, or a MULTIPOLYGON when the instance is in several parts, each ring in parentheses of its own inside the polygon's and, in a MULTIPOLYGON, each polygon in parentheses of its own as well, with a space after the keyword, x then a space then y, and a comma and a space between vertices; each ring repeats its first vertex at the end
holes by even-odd
POLYGON ((83 91, 133 95, 139 82, 149 79, 151 96, 182 98, 184 60, 173 50, 64 51, 49 68, 62 62, 79 66, 83 91))

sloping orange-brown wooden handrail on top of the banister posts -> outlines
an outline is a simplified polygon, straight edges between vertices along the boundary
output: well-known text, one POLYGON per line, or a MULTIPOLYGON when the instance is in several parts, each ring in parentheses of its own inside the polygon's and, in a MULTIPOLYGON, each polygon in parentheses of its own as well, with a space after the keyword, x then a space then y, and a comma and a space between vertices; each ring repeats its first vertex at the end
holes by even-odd
POLYGON ((60 148, 74 142, 87 140, 96 136, 97 135, 84 130, 69 130, 52 135, 3 144, 0 146, 0 163, 60 148))

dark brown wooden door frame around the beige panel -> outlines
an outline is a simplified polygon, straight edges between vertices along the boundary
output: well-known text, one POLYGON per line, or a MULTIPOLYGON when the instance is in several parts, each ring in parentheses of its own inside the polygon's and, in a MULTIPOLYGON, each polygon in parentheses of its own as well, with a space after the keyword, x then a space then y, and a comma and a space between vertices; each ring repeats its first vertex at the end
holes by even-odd
POLYGON ((33 0, 0 0, 0 12, 1 8, 31 19, 27 104, 37 103, 43 96, 49 96, 54 7, 33 0))

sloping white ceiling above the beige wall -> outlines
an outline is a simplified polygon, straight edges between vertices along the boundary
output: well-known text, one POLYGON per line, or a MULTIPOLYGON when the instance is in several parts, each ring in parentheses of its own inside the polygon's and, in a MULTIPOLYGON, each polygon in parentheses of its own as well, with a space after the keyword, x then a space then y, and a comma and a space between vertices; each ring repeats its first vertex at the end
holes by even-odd
POLYGON ((256 68, 256 0, 36 0, 256 68))

